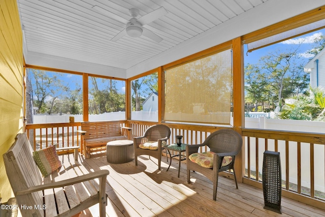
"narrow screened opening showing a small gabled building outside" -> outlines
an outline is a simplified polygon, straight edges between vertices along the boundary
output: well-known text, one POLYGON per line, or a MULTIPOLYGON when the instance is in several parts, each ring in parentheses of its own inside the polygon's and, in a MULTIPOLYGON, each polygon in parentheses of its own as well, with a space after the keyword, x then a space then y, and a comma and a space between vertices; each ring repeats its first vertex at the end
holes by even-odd
POLYGON ((158 121, 158 73, 131 81, 131 119, 158 121), (151 99, 151 100, 150 100, 151 99))

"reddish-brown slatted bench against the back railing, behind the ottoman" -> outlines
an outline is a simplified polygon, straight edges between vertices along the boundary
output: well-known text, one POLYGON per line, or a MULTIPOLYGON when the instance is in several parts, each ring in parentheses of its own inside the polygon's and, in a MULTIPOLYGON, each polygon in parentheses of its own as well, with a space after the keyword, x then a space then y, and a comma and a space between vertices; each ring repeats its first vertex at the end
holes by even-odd
POLYGON ((106 147, 107 142, 128 139, 121 129, 118 121, 81 122, 79 133, 82 136, 84 156, 90 158, 91 148, 106 147))

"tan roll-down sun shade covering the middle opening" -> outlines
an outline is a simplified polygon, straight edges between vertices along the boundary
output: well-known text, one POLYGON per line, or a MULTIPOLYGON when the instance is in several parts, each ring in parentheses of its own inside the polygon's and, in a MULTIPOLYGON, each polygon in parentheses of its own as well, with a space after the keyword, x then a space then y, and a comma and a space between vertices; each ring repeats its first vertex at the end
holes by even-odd
POLYGON ((167 69, 164 120, 230 125, 231 57, 228 49, 167 69))

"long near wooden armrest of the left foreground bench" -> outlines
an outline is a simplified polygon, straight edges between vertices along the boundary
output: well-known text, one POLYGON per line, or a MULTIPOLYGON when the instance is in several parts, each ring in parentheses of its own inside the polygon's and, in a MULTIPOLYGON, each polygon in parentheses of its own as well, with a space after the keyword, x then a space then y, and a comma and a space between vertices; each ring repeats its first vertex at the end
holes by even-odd
POLYGON ((88 181, 94 178, 101 178, 101 177, 107 177, 107 175, 110 172, 108 170, 100 170, 100 171, 95 171, 89 174, 85 174, 82 176, 77 176, 74 178, 66 179, 66 180, 61 180, 57 182, 51 182, 51 183, 46 183, 46 184, 41 184, 37 186, 30 187, 28 189, 18 191, 16 192, 16 195, 25 195, 25 194, 30 194, 32 192, 38 192, 42 191, 45 189, 53 189, 53 188, 59 188, 59 187, 64 187, 76 183, 80 183, 82 181, 88 181))

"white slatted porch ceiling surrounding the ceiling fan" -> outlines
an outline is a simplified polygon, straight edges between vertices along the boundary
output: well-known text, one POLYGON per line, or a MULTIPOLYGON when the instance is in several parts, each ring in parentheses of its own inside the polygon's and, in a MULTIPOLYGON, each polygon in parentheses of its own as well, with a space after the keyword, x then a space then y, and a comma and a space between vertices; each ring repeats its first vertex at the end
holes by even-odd
MULTIPOLYGON (((323 0, 18 0, 27 65, 129 78, 322 6, 323 0), (163 40, 111 41, 138 9, 163 40)), ((138 18, 137 17, 137 18, 138 18)))

